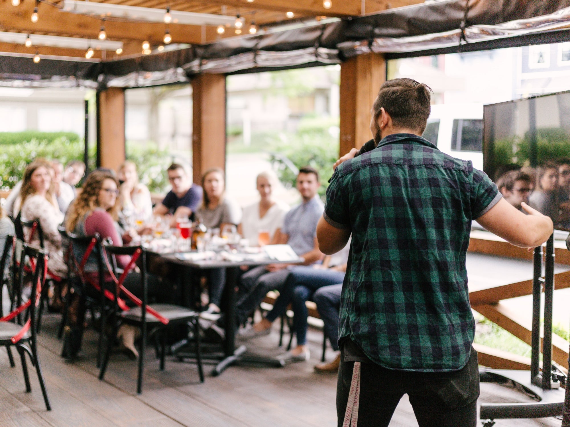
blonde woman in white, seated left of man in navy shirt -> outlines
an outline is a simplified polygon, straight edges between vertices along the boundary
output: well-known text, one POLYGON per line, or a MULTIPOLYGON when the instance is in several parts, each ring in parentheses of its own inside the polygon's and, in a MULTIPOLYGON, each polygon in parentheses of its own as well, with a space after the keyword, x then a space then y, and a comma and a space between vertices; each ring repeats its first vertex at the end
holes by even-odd
POLYGON ((139 182, 135 163, 127 160, 119 167, 117 178, 121 186, 120 202, 121 214, 127 222, 134 223, 135 219, 146 221, 152 216, 152 200, 150 191, 145 184, 139 182))

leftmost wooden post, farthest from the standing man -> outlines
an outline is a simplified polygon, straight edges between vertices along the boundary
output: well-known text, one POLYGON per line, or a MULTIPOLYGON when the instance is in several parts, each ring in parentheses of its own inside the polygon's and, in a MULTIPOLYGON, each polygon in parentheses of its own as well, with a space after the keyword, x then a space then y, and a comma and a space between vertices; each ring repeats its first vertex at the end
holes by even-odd
POLYGON ((125 90, 97 92, 97 167, 117 170, 125 161, 125 90))

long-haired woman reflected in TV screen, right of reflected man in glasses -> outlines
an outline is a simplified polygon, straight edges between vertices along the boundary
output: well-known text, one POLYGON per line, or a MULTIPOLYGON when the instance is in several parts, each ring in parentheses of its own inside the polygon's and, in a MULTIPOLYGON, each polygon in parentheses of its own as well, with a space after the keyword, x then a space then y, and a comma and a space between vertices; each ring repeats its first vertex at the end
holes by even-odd
POLYGON ((543 215, 549 216, 553 223, 558 222, 558 166, 547 162, 538 168, 536 188, 528 198, 530 207, 535 208, 543 215))

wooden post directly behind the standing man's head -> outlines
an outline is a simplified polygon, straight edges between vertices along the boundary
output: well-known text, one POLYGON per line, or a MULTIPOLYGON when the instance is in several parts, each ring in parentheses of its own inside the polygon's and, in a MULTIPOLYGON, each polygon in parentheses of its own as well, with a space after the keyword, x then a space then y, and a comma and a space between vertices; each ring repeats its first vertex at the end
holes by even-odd
POLYGON ((370 109, 385 80, 383 55, 358 55, 340 65, 340 155, 372 138, 370 109))

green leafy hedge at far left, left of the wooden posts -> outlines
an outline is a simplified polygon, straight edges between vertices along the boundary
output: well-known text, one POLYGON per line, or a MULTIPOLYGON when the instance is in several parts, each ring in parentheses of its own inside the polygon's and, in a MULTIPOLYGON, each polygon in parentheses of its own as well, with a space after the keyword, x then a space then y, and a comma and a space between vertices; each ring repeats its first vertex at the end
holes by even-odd
MULTIPOLYGON (((7 191, 22 179, 28 163, 36 157, 58 159, 64 165, 71 160, 83 161, 83 141, 70 141, 66 137, 52 140, 31 139, 28 142, 0 146, 0 188, 7 191)), ((95 145, 90 147, 91 169, 95 166, 95 145), (92 164, 91 164, 92 163, 92 164)))

